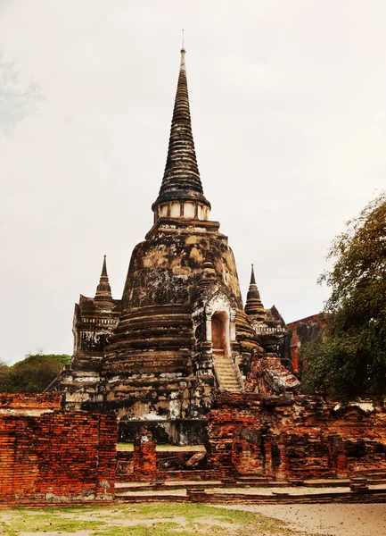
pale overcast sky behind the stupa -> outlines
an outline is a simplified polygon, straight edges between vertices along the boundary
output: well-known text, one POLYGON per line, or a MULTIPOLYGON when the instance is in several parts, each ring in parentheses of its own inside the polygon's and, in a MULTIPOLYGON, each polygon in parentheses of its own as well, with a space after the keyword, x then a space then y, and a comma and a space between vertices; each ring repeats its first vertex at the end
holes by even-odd
POLYGON ((316 314, 344 222, 386 186, 384 0, 0 0, 0 358, 72 352, 103 254, 152 226, 181 29, 201 180, 264 306, 316 314))

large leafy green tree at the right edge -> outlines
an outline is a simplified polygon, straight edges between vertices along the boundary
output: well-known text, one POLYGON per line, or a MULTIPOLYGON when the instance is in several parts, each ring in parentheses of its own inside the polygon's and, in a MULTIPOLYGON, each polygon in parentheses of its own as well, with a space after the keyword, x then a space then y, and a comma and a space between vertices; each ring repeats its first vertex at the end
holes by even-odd
POLYGON ((319 278, 332 293, 323 334, 301 349, 303 392, 341 401, 386 394, 386 192, 334 239, 331 271, 319 278))

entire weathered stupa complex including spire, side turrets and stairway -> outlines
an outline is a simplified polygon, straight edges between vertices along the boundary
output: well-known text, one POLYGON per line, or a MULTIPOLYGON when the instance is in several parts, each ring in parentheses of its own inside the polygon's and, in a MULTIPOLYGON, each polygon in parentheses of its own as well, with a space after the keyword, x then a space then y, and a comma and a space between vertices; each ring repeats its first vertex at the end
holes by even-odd
POLYGON ((71 364, 50 388, 68 407, 118 415, 123 440, 146 422, 159 441, 201 443, 219 391, 282 393, 299 384, 283 366, 283 318, 263 307, 253 267, 244 309, 234 254, 210 209, 183 49, 152 229, 133 250, 121 300, 111 297, 104 259, 95 297, 75 306, 71 364))

